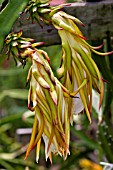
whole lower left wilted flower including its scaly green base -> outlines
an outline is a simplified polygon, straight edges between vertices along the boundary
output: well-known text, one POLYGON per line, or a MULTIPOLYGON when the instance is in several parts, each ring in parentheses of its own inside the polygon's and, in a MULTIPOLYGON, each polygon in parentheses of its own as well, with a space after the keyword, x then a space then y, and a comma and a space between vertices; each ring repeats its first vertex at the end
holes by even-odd
POLYGON ((5 42, 8 53, 11 53, 22 64, 27 59, 31 62, 27 77, 27 84, 30 82, 28 108, 34 111, 35 116, 25 158, 36 146, 36 161, 38 162, 43 138, 46 160, 49 157, 52 162, 52 153, 59 154, 66 159, 69 154, 72 119, 69 100, 74 96, 54 76, 47 53, 35 48, 36 45, 43 43, 32 44, 32 39, 22 38, 21 35, 22 32, 11 33, 5 42))

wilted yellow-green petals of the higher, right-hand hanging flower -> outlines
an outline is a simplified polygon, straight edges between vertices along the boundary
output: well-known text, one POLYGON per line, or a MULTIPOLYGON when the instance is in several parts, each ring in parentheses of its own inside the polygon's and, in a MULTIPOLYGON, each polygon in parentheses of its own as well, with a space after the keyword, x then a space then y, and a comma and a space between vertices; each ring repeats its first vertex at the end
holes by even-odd
MULTIPOLYGON (((61 37, 62 41, 62 63, 58 70, 58 74, 62 77, 63 85, 73 94, 80 97, 78 100, 81 104, 81 110, 84 108, 89 121, 91 122, 90 114, 92 111, 92 88, 100 95, 99 108, 101 107, 104 84, 100 71, 91 57, 94 52, 98 55, 108 55, 113 52, 101 53, 96 51, 101 48, 92 47, 86 42, 77 24, 82 26, 83 23, 77 18, 59 11, 52 16, 52 23, 61 37)), ((74 105, 75 99, 70 99, 74 105)), ((75 108, 76 109, 76 108, 75 108)))

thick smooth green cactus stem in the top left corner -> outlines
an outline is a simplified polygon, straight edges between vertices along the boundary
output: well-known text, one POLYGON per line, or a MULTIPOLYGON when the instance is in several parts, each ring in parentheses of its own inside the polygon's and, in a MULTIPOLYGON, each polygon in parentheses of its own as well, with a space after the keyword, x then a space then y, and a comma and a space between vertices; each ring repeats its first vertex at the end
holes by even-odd
POLYGON ((0 51, 4 44, 5 36, 10 32, 15 20, 19 17, 29 0, 10 0, 8 5, 0 13, 0 51))

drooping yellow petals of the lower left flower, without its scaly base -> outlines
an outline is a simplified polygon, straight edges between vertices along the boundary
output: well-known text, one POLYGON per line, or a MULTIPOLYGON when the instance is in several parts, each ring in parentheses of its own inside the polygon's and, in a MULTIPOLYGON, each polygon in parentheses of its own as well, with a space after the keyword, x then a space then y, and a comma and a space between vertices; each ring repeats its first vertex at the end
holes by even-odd
POLYGON ((36 50, 31 55, 32 66, 30 69, 30 90, 28 107, 33 102, 35 111, 32 137, 27 149, 26 157, 30 150, 37 145, 37 161, 41 137, 45 142, 46 159, 51 160, 52 153, 60 154, 66 159, 69 154, 70 116, 68 113, 69 92, 54 77, 53 72, 44 59, 45 52, 36 50))

